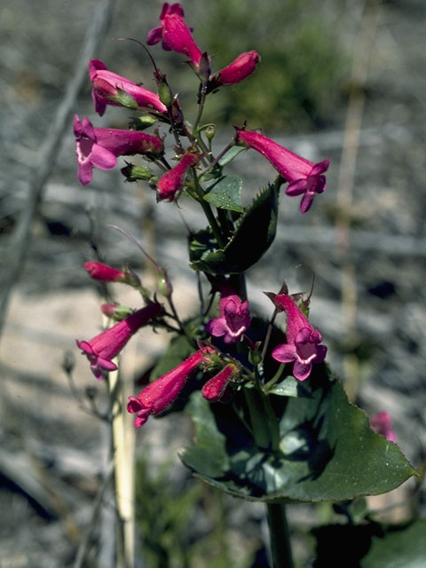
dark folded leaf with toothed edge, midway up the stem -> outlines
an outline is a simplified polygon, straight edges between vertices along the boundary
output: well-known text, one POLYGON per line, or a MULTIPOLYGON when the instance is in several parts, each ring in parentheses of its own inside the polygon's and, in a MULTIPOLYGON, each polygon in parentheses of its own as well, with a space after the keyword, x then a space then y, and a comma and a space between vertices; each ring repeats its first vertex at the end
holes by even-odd
POLYGON ((233 238, 218 248, 209 229, 193 235, 189 258, 194 270, 209 274, 239 274, 264 255, 277 231, 278 190, 268 185, 244 211, 233 238))

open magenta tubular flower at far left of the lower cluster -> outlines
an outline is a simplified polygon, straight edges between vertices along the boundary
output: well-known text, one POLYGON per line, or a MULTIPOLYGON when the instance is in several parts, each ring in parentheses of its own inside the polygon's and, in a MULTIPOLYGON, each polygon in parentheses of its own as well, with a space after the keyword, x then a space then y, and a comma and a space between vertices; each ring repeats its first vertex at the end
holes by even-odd
POLYGON ((76 341, 91 363, 91 371, 98 380, 102 379, 102 371, 114 371, 117 366, 111 359, 118 355, 124 345, 140 327, 154 319, 162 312, 160 304, 148 304, 145 308, 132 313, 113 327, 109 327, 90 341, 76 341))

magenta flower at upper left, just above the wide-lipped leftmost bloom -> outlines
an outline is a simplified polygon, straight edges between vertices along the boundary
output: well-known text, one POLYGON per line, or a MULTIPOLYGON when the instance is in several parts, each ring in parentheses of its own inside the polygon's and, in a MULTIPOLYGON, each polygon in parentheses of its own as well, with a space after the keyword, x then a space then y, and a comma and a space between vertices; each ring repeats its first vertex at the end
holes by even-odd
POLYGON ((162 104, 158 95, 121 75, 108 71, 99 59, 89 61, 89 75, 93 84, 91 95, 95 110, 100 116, 105 113, 106 105, 122 106, 120 91, 124 91, 134 99, 136 106, 167 113, 167 106, 162 104))

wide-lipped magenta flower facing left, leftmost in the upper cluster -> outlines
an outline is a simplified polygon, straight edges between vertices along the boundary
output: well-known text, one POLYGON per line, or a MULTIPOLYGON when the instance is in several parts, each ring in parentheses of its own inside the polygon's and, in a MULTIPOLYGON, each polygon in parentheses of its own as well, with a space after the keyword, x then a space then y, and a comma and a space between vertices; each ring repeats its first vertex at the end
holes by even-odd
POLYGON ((78 179, 82 185, 91 182, 93 167, 111 170, 117 156, 130 154, 160 155, 162 140, 151 134, 114 128, 93 128, 85 117, 81 122, 74 117, 75 154, 78 163, 78 179))

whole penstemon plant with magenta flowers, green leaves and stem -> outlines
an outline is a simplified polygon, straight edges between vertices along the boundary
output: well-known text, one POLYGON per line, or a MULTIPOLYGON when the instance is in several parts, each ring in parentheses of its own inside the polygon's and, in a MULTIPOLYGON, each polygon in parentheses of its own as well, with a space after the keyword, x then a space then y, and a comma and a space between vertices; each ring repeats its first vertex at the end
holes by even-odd
POLYGON ((394 443, 387 414, 373 419, 370 428, 367 415, 348 401, 327 365, 322 335, 309 321, 310 298, 290 294, 286 285, 277 283, 275 292, 267 291, 269 314, 262 318, 249 308, 245 272, 274 240, 281 188, 289 197, 300 196, 301 213, 307 213, 316 195, 326 189, 328 160, 309 162, 263 133, 248 130, 246 124, 235 128, 229 143, 215 154, 211 140, 216 125, 202 122, 209 93, 253 74, 259 55, 241 53, 228 67, 212 71, 212 60, 195 43, 180 4, 163 4, 160 21, 146 42, 162 42, 164 49, 183 54, 188 72, 200 79, 194 121, 188 122, 146 48, 158 93, 92 60, 89 74, 96 111, 102 115, 106 106, 114 105, 139 114, 130 130, 94 128, 87 118, 80 121, 75 116, 78 178, 87 185, 93 168, 109 170, 118 156, 143 155, 150 165, 126 162, 122 174, 127 181, 145 180, 157 201, 178 201, 182 209, 186 199, 195 200, 208 226, 190 235, 189 259, 193 271, 205 275, 218 303, 211 302, 201 316, 182 320, 166 270, 149 256, 159 276, 158 289, 152 292, 129 269, 86 263, 95 280, 137 288, 145 306, 132 312, 104 304, 102 312, 116 322, 77 345, 96 378, 107 380, 117 368, 115 358, 141 327, 170 330, 173 354, 165 352, 152 382, 137 396, 127 393, 135 426, 173 409, 185 392, 185 411, 193 417, 197 438, 181 460, 225 493, 264 501, 273 563, 291 566, 286 503, 346 502, 388 492, 417 473, 394 443), (153 127, 150 134, 142 131, 153 127), (170 138, 160 134, 161 127, 170 138), (171 150, 170 160, 166 152, 171 150), (226 175, 225 166, 249 150, 271 162, 277 177, 243 207, 242 180, 226 175))

